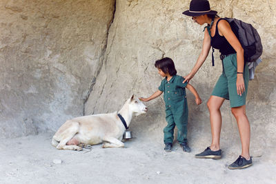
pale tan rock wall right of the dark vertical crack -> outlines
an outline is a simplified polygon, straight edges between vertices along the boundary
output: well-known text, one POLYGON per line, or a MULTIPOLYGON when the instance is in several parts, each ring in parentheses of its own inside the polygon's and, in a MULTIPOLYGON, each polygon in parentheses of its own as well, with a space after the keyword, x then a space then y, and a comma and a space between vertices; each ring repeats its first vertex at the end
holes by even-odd
MULTIPOLYGON (((149 96, 157 90, 161 77, 154 63, 162 57, 175 61, 177 72, 186 75, 193 68, 203 41, 204 26, 193 23, 181 14, 188 9, 186 1, 116 1, 115 19, 108 34, 108 45, 103 67, 86 103, 86 114, 119 110, 132 93, 149 96)), ((251 152, 273 150, 275 139, 275 1, 210 1, 211 8, 220 17, 235 17, 253 24, 264 45, 263 62, 258 66, 255 79, 249 83, 247 114, 251 125, 251 152)), ((206 102, 221 74, 219 52, 215 52, 215 67, 210 56, 190 82, 199 92, 203 103, 196 105, 188 93, 188 139, 192 147, 204 149, 210 144, 210 123, 206 102)), ((166 125, 162 98, 146 103, 146 116, 134 119, 130 129, 139 139, 162 143, 166 125)), ((228 154, 240 150, 237 123, 226 101, 221 108, 223 125, 221 147, 228 154)), ((266 154, 269 156, 269 154, 266 154)), ((270 158, 270 157, 269 157, 270 158)))

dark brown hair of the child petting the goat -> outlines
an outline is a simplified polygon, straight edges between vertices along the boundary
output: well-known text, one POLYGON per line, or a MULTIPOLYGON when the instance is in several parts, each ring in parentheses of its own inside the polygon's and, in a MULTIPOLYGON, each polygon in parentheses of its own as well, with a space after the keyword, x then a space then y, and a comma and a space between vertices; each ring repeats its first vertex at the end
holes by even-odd
POLYGON ((175 70, 175 63, 169 57, 164 57, 155 61, 155 67, 162 70, 165 74, 170 74, 170 76, 177 74, 175 70))

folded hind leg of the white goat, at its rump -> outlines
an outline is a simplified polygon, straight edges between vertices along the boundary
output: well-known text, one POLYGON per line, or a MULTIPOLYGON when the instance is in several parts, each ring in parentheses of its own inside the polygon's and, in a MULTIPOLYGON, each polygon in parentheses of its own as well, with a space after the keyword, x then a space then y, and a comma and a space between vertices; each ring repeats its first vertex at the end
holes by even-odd
POLYGON ((77 146, 77 145, 66 145, 66 143, 68 143, 68 141, 70 141, 75 134, 77 134, 77 132, 79 131, 79 122, 68 122, 68 124, 70 123, 70 126, 68 126, 68 128, 66 130, 63 130, 61 134, 59 135, 55 135, 55 136, 59 136, 59 144, 57 145, 57 149, 59 150, 77 150, 77 151, 81 151, 82 148, 77 146))

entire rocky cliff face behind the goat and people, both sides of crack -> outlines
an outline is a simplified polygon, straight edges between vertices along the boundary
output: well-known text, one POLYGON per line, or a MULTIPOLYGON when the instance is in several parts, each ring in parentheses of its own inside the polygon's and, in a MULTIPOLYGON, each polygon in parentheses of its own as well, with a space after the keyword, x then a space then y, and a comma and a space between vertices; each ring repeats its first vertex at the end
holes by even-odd
MULTIPOLYGON (((260 150, 275 149, 276 143, 276 3, 210 4, 220 17, 251 23, 262 37, 263 62, 249 83, 247 114, 252 150, 263 154, 260 150)), ((119 110, 132 93, 149 96, 161 82, 154 62, 162 57, 175 61, 178 74, 188 74, 204 36, 204 26, 181 14, 188 6, 188 0, 1 1, 1 137, 55 131, 83 112, 119 110)), ((215 67, 208 57, 190 81, 204 101, 196 105, 187 92, 191 145, 210 143, 206 102, 221 74, 220 62, 216 51, 215 67)), ((146 105, 148 114, 134 119, 130 128, 139 139, 161 143, 166 125, 163 99, 146 105)), ((239 134, 228 101, 221 113, 221 146, 237 150, 239 134)))

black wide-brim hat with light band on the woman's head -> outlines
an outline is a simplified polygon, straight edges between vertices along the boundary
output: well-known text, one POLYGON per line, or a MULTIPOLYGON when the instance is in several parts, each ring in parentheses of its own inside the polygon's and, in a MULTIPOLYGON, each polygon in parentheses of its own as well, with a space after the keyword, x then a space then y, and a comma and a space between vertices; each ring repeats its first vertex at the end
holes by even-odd
POLYGON ((217 14, 217 11, 210 9, 210 3, 207 0, 192 0, 190 1, 190 9, 182 14, 197 17, 202 14, 217 14))

